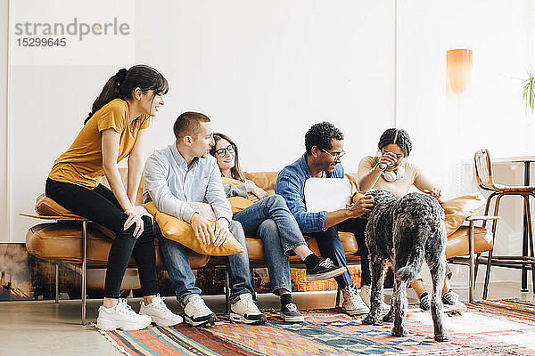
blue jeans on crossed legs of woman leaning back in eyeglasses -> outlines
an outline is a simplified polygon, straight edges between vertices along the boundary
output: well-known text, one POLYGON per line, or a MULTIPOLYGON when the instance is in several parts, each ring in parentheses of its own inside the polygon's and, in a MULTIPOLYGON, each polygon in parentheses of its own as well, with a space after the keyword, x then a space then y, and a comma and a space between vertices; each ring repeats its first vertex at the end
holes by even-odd
POLYGON ((281 288, 292 291, 288 256, 295 255, 293 248, 306 242, 284 198, 263 198, 236 213, 233 219, 242 223, 245 236, 262 239, 273 293, 278 295, 281 288))

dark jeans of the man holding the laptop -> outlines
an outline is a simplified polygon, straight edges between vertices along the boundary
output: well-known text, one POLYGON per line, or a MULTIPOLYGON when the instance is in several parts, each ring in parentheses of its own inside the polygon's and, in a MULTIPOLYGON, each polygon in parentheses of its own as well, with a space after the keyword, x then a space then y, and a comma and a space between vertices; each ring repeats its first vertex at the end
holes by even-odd
MULTIPOLYGON (((329 257, 333 263, 338 266, 347 266, 348 262, 345 258, 345 253, 342 246, 342 241, 338 236, 338 231, 351 232, 355 235, 358 245, 358 255, 360 256, 360 279, 361 286, 366 286, 371 282, 370 262, 366 242, 364 241, 364 231, 366 230, 367 221, 364 219, 354 218, 331 226, 323 232, 309 233, 310 237, 317 240, 317 247, 319 252, 326 258, 329 257)), ((350 277, 350 272, 346 271, 342 275, 335 277, 338 287, 343 288, 353 284, 350 277)))

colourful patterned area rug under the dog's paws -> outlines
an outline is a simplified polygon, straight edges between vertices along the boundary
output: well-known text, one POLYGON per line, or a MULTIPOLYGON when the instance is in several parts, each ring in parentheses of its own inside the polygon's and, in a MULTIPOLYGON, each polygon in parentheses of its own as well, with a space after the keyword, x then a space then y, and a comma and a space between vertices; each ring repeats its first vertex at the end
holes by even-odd
POLYGON ((407 313, 408 337, 391 336, 391 324, 365 326, 336 310, 308 311, 300 324, 270 312, 262 326, 220 317, 207 328, 181 324, 102 333, 129 355, 535 355, 534 304, 507 300, 468 308, 462 315, 444 314, 449 343, 433 340, 431 314, 417 309, 407 313))

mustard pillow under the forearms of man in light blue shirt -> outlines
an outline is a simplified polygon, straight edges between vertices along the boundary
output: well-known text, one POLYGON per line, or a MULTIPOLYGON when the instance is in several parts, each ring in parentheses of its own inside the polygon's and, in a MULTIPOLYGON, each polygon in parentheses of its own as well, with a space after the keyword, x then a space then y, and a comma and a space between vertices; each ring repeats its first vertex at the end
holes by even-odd
MULTIPOLYGON (((208 204, 204 204, 204 206, 210 207, 210 205, 208 204)), ((226 242, 223 246, 215 247, 212 244, 204 245, 199 242, 199 240, 195 237, 192 225, 190 225, 189 223, 185 223, 184 221, 178 219, 175 216, 161 213, 160 211, 158 211, 158 209, 152 202, 144 204, 144 207, 150 214, 152 214, 152 216, 154 216, 154 220, 156 220, 156 223, 158 223, 158 225, 160 226, 161 233, 165 238, 177 241, 178 243, 192 249, 198 254, 226 256, 239 254, 244 251, 243 246, 240 245, 240 243, 232 235, 228 239, 226 239, 226 242)), ((212 220, 215 220, 215 215, 213 214, 213 211, 211 211, 210 214, 208 212, 208 208, 199 209, 198 207, 196 208, 196 210, 199 211, 199 213, 206 215, 204 217, 208 218, 209 220, 210 218, 212 220)), ((210 223, 213 226, 215 222, 211 221, 210 223)))

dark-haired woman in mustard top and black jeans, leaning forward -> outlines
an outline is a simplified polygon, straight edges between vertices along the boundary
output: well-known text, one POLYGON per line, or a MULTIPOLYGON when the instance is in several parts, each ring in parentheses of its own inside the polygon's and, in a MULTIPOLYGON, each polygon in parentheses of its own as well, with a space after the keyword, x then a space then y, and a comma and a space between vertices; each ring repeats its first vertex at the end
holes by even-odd
POLYGON ((152 321, 174 325, 172 314, 156 293, 156 267, 152 219, 135 206, 144 165, 144 137, 168 82, 157 70, 144 65, 120 69, 93 103, 84 127, 48 174, 45 195, 70 211, 114 231, 104 284, 103 306, 97 327, 128 330, 152 321), (118 162, 128 158, 128 187, 121 181, 118 162), (111 190, 99 184, 105 175, 111 190), (144 291, 140 315, 119 298, 130 255, 134 255, 144 291))

